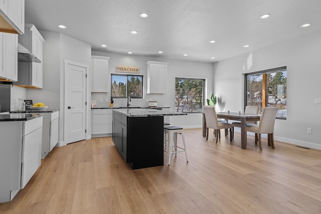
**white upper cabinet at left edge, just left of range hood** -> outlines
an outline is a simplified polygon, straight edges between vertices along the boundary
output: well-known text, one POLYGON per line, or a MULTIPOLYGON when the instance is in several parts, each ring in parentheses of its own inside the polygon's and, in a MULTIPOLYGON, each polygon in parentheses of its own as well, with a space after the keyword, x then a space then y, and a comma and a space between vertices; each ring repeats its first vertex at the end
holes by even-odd
POLYGON ((18 35, 0 33, 0 80, 18 80, 18 35))

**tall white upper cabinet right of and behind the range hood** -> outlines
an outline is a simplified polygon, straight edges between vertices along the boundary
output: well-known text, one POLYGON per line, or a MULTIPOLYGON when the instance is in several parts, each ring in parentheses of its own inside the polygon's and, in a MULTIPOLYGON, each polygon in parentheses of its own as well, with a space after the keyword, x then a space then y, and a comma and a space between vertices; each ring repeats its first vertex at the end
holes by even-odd
POLYGON ((34 25, 26 24, 25 34, 19 36, 19 43, 35 55, 41 63, 19 62, 18 82, 27 88, 43 87, 43 43, 44 38, 34 25))

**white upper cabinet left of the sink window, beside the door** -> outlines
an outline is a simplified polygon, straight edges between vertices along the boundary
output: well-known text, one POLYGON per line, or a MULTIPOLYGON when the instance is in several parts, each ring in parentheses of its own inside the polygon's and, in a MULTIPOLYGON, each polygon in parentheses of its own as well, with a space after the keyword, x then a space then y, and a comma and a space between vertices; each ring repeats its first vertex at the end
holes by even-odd
POLYGON ((108 92, 110 82, 108 60, 109 57, 91 56, 91 92, 108 92))

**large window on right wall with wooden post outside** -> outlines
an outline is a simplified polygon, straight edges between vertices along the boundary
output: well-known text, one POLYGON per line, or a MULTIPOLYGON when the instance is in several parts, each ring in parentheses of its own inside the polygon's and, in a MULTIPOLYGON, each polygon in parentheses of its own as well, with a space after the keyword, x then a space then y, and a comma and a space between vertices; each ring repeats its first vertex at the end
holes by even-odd
POLYGON ((277 119, 286 119, 286 67, 249 73, 245 103, 250 106, 278 107, 277 119))

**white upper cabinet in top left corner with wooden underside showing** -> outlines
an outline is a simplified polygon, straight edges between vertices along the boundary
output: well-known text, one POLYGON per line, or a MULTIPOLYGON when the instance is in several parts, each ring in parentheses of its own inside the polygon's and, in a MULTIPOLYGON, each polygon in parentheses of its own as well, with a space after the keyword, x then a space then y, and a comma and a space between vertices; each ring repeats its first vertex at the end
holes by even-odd
POLYGON ((25 33, 25 0, 0 0, 0 32, 25 33))

